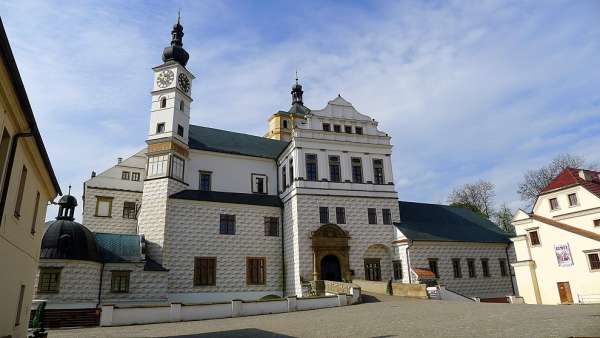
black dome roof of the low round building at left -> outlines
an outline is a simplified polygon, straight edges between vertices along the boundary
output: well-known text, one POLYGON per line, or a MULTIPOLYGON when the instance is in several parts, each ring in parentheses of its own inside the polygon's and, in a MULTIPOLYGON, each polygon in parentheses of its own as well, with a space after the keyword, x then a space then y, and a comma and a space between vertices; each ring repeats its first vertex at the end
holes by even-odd
POLYGON ((46 223, 40 258, 100 261, 94 234, 85 226, 68 219, 46 223))

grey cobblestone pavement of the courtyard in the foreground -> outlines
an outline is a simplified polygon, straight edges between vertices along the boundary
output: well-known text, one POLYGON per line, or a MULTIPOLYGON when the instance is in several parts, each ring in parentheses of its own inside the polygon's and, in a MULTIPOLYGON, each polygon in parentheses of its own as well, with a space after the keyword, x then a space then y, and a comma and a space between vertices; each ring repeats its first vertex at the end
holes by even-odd
POLYGON ((49 337, 600 337, 600 305, 478 304, 376 297, 381 301, 342 308, 52 330, 49 337))

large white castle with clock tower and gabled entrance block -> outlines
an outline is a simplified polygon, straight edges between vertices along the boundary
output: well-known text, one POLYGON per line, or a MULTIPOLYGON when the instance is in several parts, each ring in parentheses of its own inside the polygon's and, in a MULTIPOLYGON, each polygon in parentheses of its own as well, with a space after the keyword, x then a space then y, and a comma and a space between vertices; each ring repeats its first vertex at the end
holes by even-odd
MULTIPOLYGON (((84 183, 84 224, 72 226, 91 234, 98 254, 42 256, 40 276, 62 271, 49 308, 302 296, 313 280, 419 282, 406 247, 419 239, 403 234, 391 137, 378 122, 339 95, 307 108, 296 80, 290 109, 271 116, 264 137, 192 125, 194 75, 182 38, 177 22, 153 69, 147 147, 84 183)), ((472 215, 440 226, 451 232, 461 217, 472 215)), ((506 257, 508 239, 495 234, 473 255, 506 257)), ((61 246, 55 237, 48 247, 61 246)), ((464 240, 455 238, 455 246, 464 240)), ((466 290, 504 296, 510 285, 505 276, 473 279, 466 290)), ((39 298, 45 292, 38 287, 39 298)))

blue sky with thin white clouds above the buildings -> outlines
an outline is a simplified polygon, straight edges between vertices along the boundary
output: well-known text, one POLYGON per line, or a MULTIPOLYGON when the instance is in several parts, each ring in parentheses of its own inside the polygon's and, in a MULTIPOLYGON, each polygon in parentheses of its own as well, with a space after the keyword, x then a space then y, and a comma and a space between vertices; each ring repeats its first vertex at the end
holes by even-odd
POLYGON ((486 179, 517 208, 527 169, 567 152, 600 161, 597 1, 2 1, 55 171, 77 196, 92 170, 144 146, 151 68, 178 8, 192 123, 262 135, 298 68, 308 107, 339 93, 392 136, 403 200, 445 202, 486 179))

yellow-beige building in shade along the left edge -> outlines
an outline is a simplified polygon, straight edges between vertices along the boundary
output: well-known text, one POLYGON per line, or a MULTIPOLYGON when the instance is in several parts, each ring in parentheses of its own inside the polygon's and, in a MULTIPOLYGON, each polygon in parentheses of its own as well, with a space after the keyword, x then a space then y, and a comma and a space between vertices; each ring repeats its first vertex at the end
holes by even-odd
POLYGON ((46 206, 60 188, 0 20, 0 337, 26 337, 46 206))

